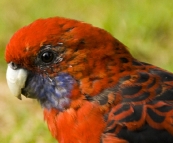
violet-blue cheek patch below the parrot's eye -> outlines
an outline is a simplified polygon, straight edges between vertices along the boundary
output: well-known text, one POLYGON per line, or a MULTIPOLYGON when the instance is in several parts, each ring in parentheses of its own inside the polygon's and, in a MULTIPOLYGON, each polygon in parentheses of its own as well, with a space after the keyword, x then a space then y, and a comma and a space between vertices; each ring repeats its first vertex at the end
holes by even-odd
POLYGON ((63 111, 70 105, 70 92, 76 81, 65 73, 60 73, 53 79, 34 75, 26 84, 27 96, 34 96, 44 108, 56 108, 63 111))

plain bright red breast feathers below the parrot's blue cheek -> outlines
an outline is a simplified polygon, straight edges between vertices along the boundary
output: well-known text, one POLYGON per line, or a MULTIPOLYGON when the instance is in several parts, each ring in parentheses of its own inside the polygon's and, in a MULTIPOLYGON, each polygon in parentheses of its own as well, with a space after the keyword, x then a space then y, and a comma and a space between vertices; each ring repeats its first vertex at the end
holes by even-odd
POLYGON ((102 114, 99 106, 84 101, 78 109, 69 108, 63 112, 45 109, 44 119, 59 142, 96 143, 100 142, 101 133, 105 128, 102 114))

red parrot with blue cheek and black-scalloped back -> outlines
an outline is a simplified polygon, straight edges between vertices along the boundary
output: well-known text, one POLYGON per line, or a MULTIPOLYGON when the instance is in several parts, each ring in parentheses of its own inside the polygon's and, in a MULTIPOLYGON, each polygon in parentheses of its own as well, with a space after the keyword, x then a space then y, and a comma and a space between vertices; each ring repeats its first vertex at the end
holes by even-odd
POLYGON ((11 94, 38 101, 59 143, 173 143, 173 73, 106 30, 40 18, 15 32, 5 60, 11 94))

